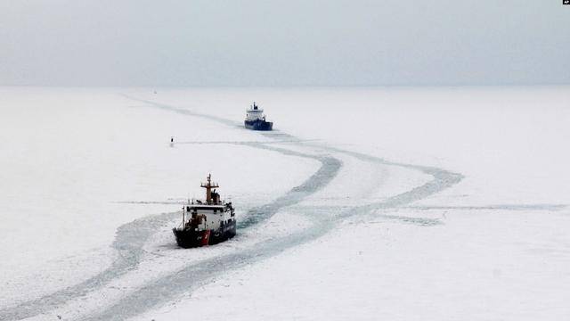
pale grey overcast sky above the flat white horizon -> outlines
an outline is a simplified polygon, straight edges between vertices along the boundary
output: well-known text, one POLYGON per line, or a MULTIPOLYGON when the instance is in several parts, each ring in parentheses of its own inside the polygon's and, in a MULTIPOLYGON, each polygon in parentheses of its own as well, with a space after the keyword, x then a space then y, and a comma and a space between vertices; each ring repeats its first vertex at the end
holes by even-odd
POLYGON ((0 85, 561 83, 562 0, 0 0, 0 85))

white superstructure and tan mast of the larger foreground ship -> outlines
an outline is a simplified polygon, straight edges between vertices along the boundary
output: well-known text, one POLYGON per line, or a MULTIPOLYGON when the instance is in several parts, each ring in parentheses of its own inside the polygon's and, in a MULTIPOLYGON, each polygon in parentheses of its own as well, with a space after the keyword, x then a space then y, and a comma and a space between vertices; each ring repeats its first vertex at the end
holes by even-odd
POLYGON ((232 220, 232 202, 220 201, 220 194, 216 193, 219 185, 211 181, 211 175, 208 175, 208 182, 200 186, 206 188, 206 201, 197 200, 184 205, 183 226, 195 227, 199 231, 216 230, 232 220))

